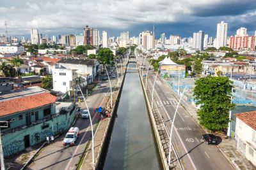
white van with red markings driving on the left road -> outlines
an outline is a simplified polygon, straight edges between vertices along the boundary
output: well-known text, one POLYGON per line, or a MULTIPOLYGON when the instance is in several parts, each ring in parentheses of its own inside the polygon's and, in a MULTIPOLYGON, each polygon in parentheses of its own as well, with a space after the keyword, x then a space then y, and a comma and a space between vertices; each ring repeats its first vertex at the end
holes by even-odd
POLYGON ((70 127, 65 138, 63 139, 63 146, 74 146, 79 137, 78 127, 70 127))

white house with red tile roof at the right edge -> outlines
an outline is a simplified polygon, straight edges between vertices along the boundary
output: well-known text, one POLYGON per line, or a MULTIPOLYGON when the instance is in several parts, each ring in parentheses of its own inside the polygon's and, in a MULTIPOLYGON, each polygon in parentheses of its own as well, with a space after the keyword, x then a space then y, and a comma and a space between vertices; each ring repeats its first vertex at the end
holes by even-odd
POLYGON ((237 150, 256 166, 256 111, 236 114, 237 150))

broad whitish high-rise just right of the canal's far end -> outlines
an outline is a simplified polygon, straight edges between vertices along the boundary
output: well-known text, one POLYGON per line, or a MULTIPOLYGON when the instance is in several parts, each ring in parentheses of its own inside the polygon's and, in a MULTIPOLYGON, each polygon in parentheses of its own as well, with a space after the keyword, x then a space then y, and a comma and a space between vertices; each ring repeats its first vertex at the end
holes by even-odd
POLYGON ((145 31, 141 32, 139 35, 139 46, 141 48, 144 48, 146 50, 150 50, 154 48, 154 36, 152 35, 152 32, 145 31))

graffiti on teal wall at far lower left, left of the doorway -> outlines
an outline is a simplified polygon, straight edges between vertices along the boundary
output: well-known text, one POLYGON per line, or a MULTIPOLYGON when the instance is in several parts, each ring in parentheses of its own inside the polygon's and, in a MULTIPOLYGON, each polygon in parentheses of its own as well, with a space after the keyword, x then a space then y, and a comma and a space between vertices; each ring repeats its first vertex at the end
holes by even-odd
POLYGON ((9 155, 13 155, 20 150, 22 150, 24 146, 24 141, 23 140, 17 140, 17 141, 12 141, 8 145, 3 146, 3 152, 4 152, 4 157, 8 157, 9 155))

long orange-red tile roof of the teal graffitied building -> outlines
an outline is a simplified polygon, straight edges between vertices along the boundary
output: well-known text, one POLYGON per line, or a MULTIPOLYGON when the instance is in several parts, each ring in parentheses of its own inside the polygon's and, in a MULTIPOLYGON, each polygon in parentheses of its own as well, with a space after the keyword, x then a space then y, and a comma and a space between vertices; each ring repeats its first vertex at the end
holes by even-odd
POLYGON ((55 103, 55 101, 56 97, 47 92, 7 101, 0 101, 0 117, 52 104, 55 103))

